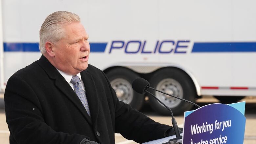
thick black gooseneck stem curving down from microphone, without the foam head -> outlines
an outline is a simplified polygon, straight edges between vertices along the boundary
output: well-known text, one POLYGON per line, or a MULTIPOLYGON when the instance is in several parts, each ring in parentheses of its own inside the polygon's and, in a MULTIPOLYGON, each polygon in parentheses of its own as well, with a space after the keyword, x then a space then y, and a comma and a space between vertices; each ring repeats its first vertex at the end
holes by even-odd
POLYGON ((180 134, 180 131, 179 131, 179 128, 178 128, 178 124, 176 122, 176 119, 174 118, 173 116, 173 113, 172 113, 172 110, 167 107, 163 102, 161 102, 154 94, 148 92, 147 90, 144 90, 145 92, 147 92, 148 94, 150 94, 151 96, 153 96, 156 100, 158 100, 162 105, 164 105, 171 113, 171 116, 172 116, 172 125, 173 125, 173 128, 174 128, 174 132, 175 132, 175 135, 176 135, 176 138, 173 138, 173 139, 170 139, 170 141, 173 141, 173 140, 178 140, 178 139, 182 139, 182 136, 180 134))

